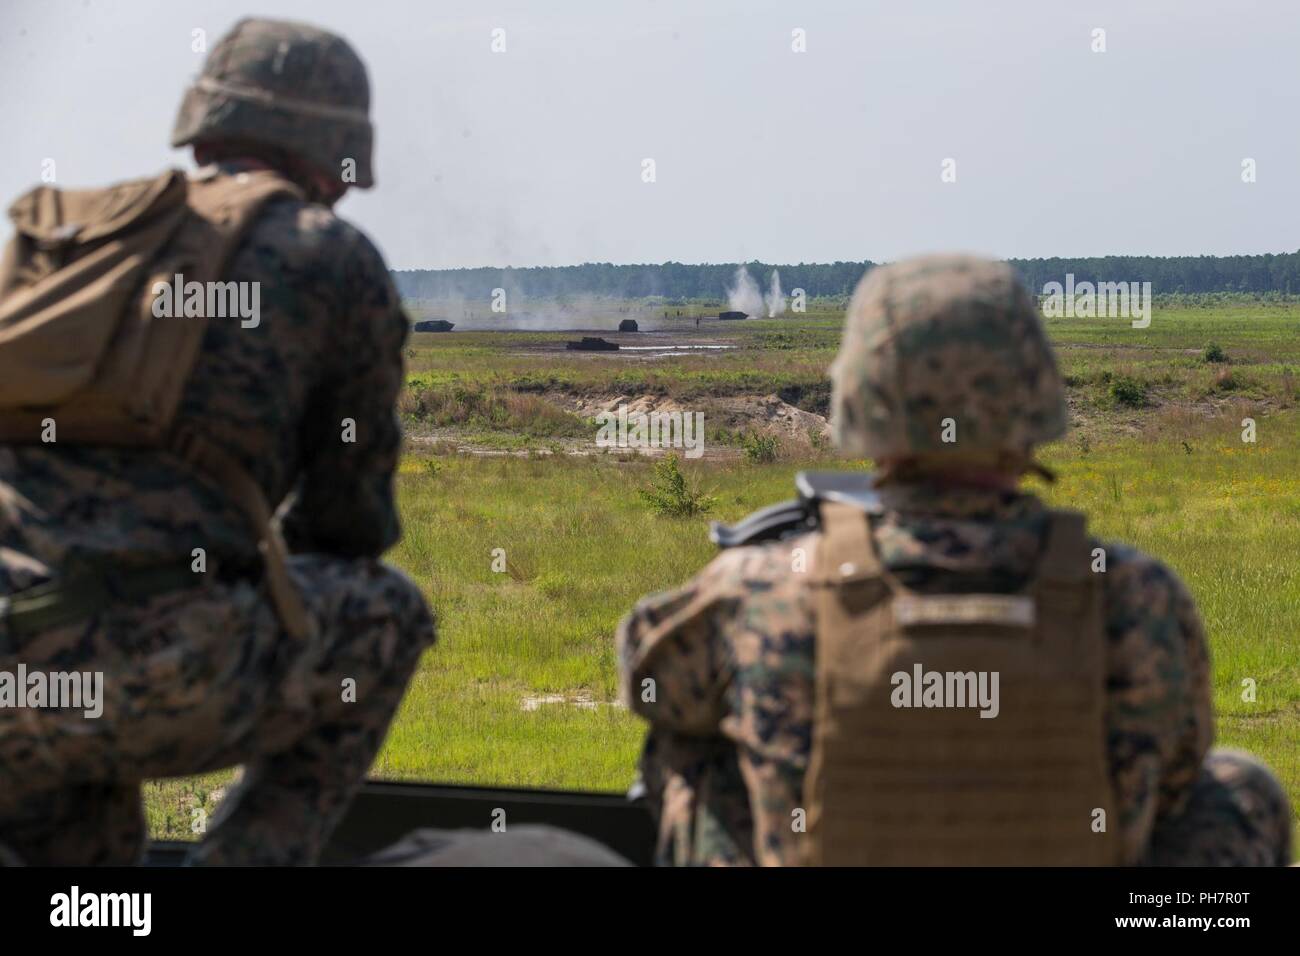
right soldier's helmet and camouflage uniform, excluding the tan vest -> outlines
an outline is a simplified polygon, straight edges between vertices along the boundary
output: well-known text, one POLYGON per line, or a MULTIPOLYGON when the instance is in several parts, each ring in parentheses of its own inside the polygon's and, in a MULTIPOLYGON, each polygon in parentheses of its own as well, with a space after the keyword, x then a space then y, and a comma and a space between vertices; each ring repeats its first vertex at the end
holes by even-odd
MULTIPOLYGON (((1065 431, 1066 412, 1036 307, 1009 268, 926 258, 874 271, 832 377, 837 444, 881 466, 871 531, 881 564, 922 594, 1009 593, 1031 580, 1049 512, 1015 477, 1043 471, 1030 451, 1065 431), (967 438, 958 446, 996 454, 953 457, 937 425, 916 424, 949 410, 967 438)), ((623 696, 650 723, 641 774, 659 864, 801 860, 792 814, 806 806, 814 740, 806 581, 818 537, 724 550, 620 624, 623 696)), ((1209 656, 1186 587, 1132 548, 1091 548, 1106 557, 1105 752, 1123 860, 1286 864, 1280 784, 1248 754, 1210 750, 1209 656)))

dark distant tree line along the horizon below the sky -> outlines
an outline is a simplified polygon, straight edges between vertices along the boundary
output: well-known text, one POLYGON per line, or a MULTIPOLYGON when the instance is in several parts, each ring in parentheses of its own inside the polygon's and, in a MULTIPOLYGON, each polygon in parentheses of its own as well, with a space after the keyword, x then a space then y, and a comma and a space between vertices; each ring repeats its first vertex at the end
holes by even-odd
MULTIPOLYGON (((1193 293, 1300 294, 1300 251, 1252 256, 1092 256, 1086 259, 1010 259, 1034 291, 1048 282, 1150 282, 1157 295, 1193 293)), ((737 265, 744 264, 767 289, 772 269, 781 289, 811 297, 844 297, 875 263, 718 263, 689 265, 541 265, 528 268, 399 269, 398 290, 412 299, 488 299, 494 289, 528 298, 602 295, 641 299, 724 299, 737 265)))

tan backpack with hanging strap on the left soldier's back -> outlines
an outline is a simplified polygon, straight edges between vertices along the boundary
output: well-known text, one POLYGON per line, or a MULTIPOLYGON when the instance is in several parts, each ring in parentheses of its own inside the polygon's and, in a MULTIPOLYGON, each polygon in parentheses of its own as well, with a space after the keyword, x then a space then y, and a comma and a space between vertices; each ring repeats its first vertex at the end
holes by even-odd
POLYGON ((276 196, 302 193, 269 170, 205 168, 99 190, 39 186, 14 202, 0 260, 0 444, 40 444, 52 423, 60 442, 179 455, 244 512, 281 623, 303 639, 311 619, 261 488, 221 446, 176 427, 208 316, 153 308, 156 284, 177 274, 221 280, 276 196))

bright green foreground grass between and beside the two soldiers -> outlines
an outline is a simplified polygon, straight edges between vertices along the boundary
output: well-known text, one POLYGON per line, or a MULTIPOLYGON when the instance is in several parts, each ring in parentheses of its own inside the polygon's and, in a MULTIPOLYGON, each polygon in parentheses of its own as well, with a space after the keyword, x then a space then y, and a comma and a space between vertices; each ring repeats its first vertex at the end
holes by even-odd
MULTIPOLYGON (((1231 421, 1183 440, 1048 451, 1061 481, 1048 498, 1082 507, 1096 533, 1131 542, 1183 575, 1206 622, 1221 737, 1268 756, 1300 796, 1300 446, 1295 418, 1240 442, 1231 421), (1288 429, 1292 429, 1288 432, 1288 429), (1192 449, 1188 451, 1188 449, 1192 449), (1258 685, 1242 700, 1242 680, 1258 685)), ((789 494, 792 466, 696 463, 722 518, 789 494)), ((528 695, 614 698, 611 635, 633 601, 681 581, 712 548, 706 523, 658 518, 630 493, 650 463, 447 459, 400 479, 407 537, 394 557, 439 611, 442 641, 424 662, 380 770, 429 779, 619 788, 638 728, 620 711, 517 710, 528 695), (500 548, 512 572, 491 570, 500 548), (454 702, 459 701, 459 704, 454 702), (459 717, 452 717, 459 714, 459 717), (488 736, 482 736, 484 734, 488 736), (443 741, 445 743, 441 743, 443 741), (532 741, 530 744, 525 741, 532 741), (500 748, 534 750, 502 761, 500 748)), ((512 750, 514 752, 514 750, 512 750)))

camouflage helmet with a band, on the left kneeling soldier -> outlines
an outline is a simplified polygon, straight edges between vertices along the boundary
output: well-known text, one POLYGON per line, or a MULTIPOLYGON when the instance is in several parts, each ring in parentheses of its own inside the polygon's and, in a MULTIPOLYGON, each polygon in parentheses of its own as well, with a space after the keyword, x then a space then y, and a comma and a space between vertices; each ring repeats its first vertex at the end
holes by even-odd
POLYGON ((248 139, 278 147, 339 176, 355 163, 363 189, 374 185, 370 83, 346 40, 280 20, 246 18, 212 48, 186 90, 172 146, 248 139))

